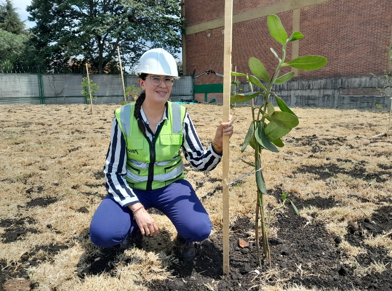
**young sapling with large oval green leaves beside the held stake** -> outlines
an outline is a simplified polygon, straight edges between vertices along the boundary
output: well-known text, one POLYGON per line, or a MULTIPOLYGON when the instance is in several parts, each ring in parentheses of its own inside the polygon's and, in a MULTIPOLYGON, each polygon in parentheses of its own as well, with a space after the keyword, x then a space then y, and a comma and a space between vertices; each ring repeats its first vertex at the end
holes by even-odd
POLYGON ((293 59, 289 62, 285 62, 286 59, 286 46, 289 42, 297 41, 302 39, 304 36, 301 32, 295 31, 290 37, 287 36, 280 19, 276 15, 270 15, 267 18, 267 26, 269 33, 274 40, 282 46, 282 53, 279 56, 274 49, 271 48, 271 52, 278 60, 278 65, 274 72, 270 75, 265 69, 264 65, 255 57, 249 59, 249 69, 253 75, 232 72, 232 76, 245 77, 246 81, 250 85, 251 92, 244 94, 235 94, 231 96, 230 102, 245 102, 261 95, 263 103, 259 107, 254 106, 252 102, 252 121, 250 123, 248 132, 245 136, 244 143, 242 145, 241 152, 250 145, 254 150, 254 164, 246 162, 255 168, 256 173, 256 184, 257 184, 257 206, 256 206, 256 247, 258 263, 261 267, 262 262, 264 265, 271 265, 270 250, 268 244, 268 229, 270 226, 271 214, 273 211, 284 206, 285 201, 289 201, 293 210, 299 215, 297 207, 287 198, 286 193, 281 196, 282 204, 279 207, 274 208, 268 217, 268 221, 265 219, 264 212, 264 199, 263 195, 266 194, 266 185, 261 169, 261 153, 262 150, 268 150, 274 153, 278 153, 277 148, 283 147, 284 143, 282 137, 286 135, 290 130, 299 124, 297 115, 291 111, 290 108, 279 98, 273 91, 272 86, 274 84, 283 84, 289 81, 295 74, 295 72, 289 72, 279 76, 280 69, 283 67, 290 66, 301 70, 317 70, 324 67, 327 64, 327 59, 322 56, 304 56, 293 59), (253 91, 253 85, 260 88, 260 91, 253 91), (280 109, 275 110, 270 97, 274 97, 276 103, 280 109), (259 249, 259 216, 261 222, 261 236, 263 242, 263 258, 259 249))

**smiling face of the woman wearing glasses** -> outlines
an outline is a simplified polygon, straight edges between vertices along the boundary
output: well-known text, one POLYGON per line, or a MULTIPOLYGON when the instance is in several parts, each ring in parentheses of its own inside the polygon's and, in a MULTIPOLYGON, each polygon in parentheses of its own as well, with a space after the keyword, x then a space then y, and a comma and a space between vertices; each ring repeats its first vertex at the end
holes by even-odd
POLYGON ((148 74, 146 79, 138 79, 140 87, 146 92, 146 99, 148 102, 156 102, 156 103, 166 103, 166 101, 170 97, 172 86, 167 86, 163 79, 172 78, 171 76, 165 75, 153 75, 148 74), (161 83, 158 86, 155 86, 151 83, 149 77, 156 77, 162 79, 161 83))

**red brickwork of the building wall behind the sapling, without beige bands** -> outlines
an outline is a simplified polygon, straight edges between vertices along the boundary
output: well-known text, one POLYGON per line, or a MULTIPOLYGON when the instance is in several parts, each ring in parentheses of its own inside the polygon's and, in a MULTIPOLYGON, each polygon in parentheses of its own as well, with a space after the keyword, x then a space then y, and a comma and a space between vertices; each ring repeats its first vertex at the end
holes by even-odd
MULTIPOLYGON (((276 1, 234 0, 234 14, 276 3, 276 1)), ((292 11, 277 14, 287 34, 292 31, 292 11)), ((392 1, 331 0, 301 9, 299 55, 322 55, 328 64, 321 70, 301 71, 299 77, 360 76, 382 74, 388 67, 385 56, 392 33, 392 1)), ((185 2, 188 26, 224 17, 224 1, 193 0, 185 2)), ((195 75, 207 69, 223 73, 224 27, 210 29, 185 37, 186 74, 195 75), (208 37, 207 34, 210 34, 208 37)), ((277 60, 270 47, 280 55, 281 46, 268 32, 266 17, 233 25, 233 71, 249 73, 248 59, 257 57, 270 72, 277 60)), ((286 60, 291 58, 288 45, 286 60)), ((290 68, 283 68, 286 73, 290 68)), ((244 81, 239 79, 240 81, 244 81)), ((222 83, 217 76, 202 76, 195 84, 222 83)))

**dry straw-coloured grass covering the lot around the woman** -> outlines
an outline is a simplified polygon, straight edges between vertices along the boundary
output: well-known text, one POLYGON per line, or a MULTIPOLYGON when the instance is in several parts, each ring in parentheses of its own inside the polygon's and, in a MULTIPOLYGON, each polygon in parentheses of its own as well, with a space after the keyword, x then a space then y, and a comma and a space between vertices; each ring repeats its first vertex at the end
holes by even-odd
MULTIPOLYGON (((204 145, 214 137, 221 121, 222 108, 210 104, 188 104, 204 145)), ((5 243, 0 240, 0 260, 19 265, 23 254, 37 246, 48 244, 69 245, 53 255, 50 260, 30 266, 30 278, 39 283, 36 290, 147 290, 151 280, 170 277, 166 270, 172 256, 172 240, 176 233, 170 221, 154 215, 161 231, 154 239, 144 239, 145 250, 129 250, 112 262, 111 274, 87 275, 79 278, 77 271, 88 266, 88 257, 99 255, 86 238, 89 221, 102 197, 106 195, 102 169, 110 139, 111 120, 118 105, 95 105, 89 113, 87 105, 36 105, 0 107, 0 221, 25 220, 28 232, 23 240, 5 243), (36 198, 55 198, 47 207, 28 206, 36 198), (79 212, 85 207, 88 212, 79 212), (28 220, 30 218, 32 220, 28 220)), ((280 187, 288 197, 312 199, 333 198, 338 205, 332 208, 308 207, 300 209, 310 222, 324 221, 327 229, 339 236, 346 233, 350 221, 368 217, 385 205, 392 182, 363 180, 349 175, 355 167, 366 172, 379 171, 378 165, 389 164, 392 137, 369 139, 385 130, 387 112, 295 108, 300 125, 283 138, 286 143, 279 154, 263 152, 263 174, 268 189, 280 187), (319 151, 315 149, 319 148, 319 151), (313 151, 313 152, 312 152, 313 151), (306 167, 325 170, 335 164, 340 173, 330 173, 320 179, 317 173, 300 171, 306 167), (369 202, 362 202, 362 198, 369 202)), ((250 148, 244 153, 240 148, 251 121, 250 108, 237 107, 231 112, 236 120, 235 134, 230 142, 230 177, 241 177, 252 168, 239 160, 252 163, 250 148)), ((197 189, 197 194, 210 213, 214 229, 222 227, 221 166, 210 173, 195 172, 186 166, 186 177, 197 189)), ((380 174, 381 178, 387 176, 380 174)), ((390 177, 390 176, 389 176, 390 177)), ((254 175, 235 182, 230 187, 230 221, 255 217, 254 175)), ((267 209, 278 201, 267 195, 267 209)), ((389 200, 390 203, 390 200, 389 200)), ((284 211, 284 210, 282 210, 284 211)), ((5 228, 0 227, 0 234, 5 228)), ((275 236, 277 229, 270 229, 275 236)), ((254 234, 253 234, 254 235, 254 234)), ((369 245, 390 247, 390 238, 368 240, 369 245)), ((350 257, 361 249, 347 242, 341 248, 350 257)), ((389 266, 385 266, 389 269, 389 266)), ((358 275, 381 271, 377 265, 369 269, 358 268, 358 275)), ((285 284, 279 273, 276 290, 308 290, 302 286, 285 284)), ((272 290, 259 285, 253 289, 272 290)), ((216 282, 206 285, 214 288, 216 282)))

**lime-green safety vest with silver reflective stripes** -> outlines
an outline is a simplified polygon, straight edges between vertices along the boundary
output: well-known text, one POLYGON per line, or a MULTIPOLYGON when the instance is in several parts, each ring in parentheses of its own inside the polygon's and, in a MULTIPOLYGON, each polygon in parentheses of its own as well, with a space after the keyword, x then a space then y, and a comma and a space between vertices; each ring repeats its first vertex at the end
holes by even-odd
POLYGON ((139 130, 134 108, 135 103, 131 103, 115 111, 127 146, 128 184, 134 189, 153 190, 183 179, 179 151, 186 108, 167 102, 168 119, 158 126, 152 141, 139 130))

